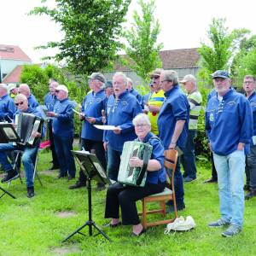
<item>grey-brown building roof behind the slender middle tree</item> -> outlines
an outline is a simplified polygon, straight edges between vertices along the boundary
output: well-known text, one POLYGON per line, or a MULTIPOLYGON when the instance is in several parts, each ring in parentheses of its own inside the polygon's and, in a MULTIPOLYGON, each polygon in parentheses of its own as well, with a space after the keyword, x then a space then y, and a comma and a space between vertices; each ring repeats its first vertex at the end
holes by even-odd
MULTIPOLYGON (((200 59, 197 48, 161 50, 159 54, 164 69, 198 67, 200 59)), ((120 55, 120 58, 125 61, 129 59, 127 55, 120 55)), ((122 61, 116 61, 113 69, 115 71, 131 70, 127 65, 123 65, 122 61)))

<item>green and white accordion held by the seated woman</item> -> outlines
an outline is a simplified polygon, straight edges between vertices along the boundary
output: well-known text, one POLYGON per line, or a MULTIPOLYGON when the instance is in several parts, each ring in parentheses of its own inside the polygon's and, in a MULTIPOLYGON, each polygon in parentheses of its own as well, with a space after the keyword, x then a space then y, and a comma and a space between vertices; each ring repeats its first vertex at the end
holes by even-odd
POLYGON ((144 187, 147 178, 148 160, 151 158, 153 147, 147 143, 137 141, 124 144, 119 166, 118 182, 131 186, 144 187), (143 160, 143 167, 131 167, 131 157, 137 156, 143 160))

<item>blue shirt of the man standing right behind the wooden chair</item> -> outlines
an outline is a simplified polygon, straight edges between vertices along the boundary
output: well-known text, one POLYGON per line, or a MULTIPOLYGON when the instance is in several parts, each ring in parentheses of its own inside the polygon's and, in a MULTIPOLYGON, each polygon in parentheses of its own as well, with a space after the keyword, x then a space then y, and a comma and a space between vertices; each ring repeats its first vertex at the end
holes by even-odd
POLYGON ((184 148, 188 132, 189 132, 189 102, 183 94, 179 85, 175 85, 171 90, 165 93, 166 101, 160 108, 160 113, 157 119, 159 129, 159 137, 162 140, 164 147, 167 149, 172 140, 173 132, 177 120, 185 120, 183 131, 177 139, 177 146, 184 148))

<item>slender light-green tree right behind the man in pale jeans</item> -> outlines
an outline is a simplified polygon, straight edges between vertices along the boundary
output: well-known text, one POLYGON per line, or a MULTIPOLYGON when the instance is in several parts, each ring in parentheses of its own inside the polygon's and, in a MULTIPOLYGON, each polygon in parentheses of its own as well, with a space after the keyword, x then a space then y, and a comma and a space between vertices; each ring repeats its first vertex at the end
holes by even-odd
POLYGON ((239 49, 241 40, 246 37, 247 29, 236 29, 229 32, 224 26, 224 19, 212 19, 208 31, 210 44, 201 43, 198 49, 202 60, 199 76, 210 82, 210 74, 218 69, 230 69, 232 57, 239 49))

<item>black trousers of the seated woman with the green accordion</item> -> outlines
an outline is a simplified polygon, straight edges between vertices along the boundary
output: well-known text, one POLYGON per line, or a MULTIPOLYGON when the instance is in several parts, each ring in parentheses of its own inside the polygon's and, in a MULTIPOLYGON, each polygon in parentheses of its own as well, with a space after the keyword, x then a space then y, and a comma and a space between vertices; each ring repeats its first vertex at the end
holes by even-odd
POLYGON ((140 223, 136 201, 145 196, 162 192, 166 183, 146 183, 145 187, 132 187, 114 183, 108 187, 105 218, 119 218, 119 207, 122 213, 122 224, 137 225, 140 223))

